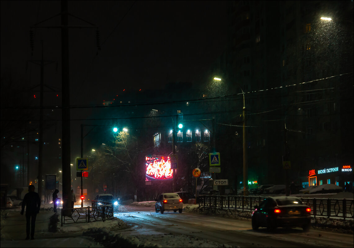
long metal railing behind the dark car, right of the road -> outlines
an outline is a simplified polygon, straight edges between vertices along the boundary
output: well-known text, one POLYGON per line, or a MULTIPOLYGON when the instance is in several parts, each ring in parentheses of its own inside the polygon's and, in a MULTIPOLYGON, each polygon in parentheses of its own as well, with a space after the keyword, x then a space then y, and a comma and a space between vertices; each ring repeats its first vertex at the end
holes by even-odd
MULTIPOLYGON (((242 209, 252 211, 255 206, 269 196, 233 196, 233 195, 200 195, 199 207, 211 207, 221 209, 242 209)), ((353 199, 321 199, 300 198, 311 208, 311 214, 316 216, 339 217, 353 219, 353 199)))

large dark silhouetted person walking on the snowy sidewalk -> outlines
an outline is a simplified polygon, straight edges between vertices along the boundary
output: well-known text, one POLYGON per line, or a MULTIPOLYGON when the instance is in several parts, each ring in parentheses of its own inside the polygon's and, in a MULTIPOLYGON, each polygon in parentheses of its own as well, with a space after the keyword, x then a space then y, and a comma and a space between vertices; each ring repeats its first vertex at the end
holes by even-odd
POLYGON ((26 240, 29 240, 29 234, 31 234, 31 240, 34 240, 34 228, 36 224, 36 217, 39 213, 39 209, 41 206, 39 194, 37 192, 34 192, 34 189, 34 185, 29 185, 28 193, 24 195, 22 201, 21 215, 23 215, 24 206, 26 206, 26 240))

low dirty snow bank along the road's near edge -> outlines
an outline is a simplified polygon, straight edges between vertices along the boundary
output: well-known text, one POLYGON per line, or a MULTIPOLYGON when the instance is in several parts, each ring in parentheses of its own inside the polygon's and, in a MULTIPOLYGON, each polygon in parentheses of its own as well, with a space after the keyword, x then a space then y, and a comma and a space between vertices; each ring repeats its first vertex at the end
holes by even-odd
POLYGON ((104 247, 176 247, 176 240, 181 247, 232 247, 228 244, 220 244, 183 234, 126 236, 106 228, 92 228, 85 231, 83 235, 93 237, 104 247))

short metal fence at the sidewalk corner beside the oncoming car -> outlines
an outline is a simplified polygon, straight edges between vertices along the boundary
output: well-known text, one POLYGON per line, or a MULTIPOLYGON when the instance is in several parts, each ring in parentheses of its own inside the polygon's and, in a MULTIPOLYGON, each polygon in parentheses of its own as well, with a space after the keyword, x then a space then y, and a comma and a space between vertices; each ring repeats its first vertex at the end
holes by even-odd
POLYGON ((73 223, 85 223, 97 220, 107 220, 113 218, 113 205, 112 203, 103 203, 103 205, 98 205, 97 201, 92 201, 92 206, 89 207, 78 207, 78 208, 67 208, 72 211, 70 216, 64 216, 61 209, 61 226, 73 223), (69 221, 69 222, 68 222, 69 221))

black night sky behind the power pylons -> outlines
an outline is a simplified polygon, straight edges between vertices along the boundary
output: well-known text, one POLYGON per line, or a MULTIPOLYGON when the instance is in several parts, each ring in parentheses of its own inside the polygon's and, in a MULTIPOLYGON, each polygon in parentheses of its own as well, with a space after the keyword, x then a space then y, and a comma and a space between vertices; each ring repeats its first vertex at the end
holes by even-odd
MULTIPOLYGON (((1 73, 24 75, 39 84, 40 67, 27 60, 58 62, 45 66, 45 84, 61 88, 60 29, 30 25, 59 14, 60 1, 1 1, 1 73)), ((164 88, 169 82, 198 85, 226 45, 225 1, 69 1, 69 13, 98 26, 70 29, 70 104, 101 104, 123 89, 164 88), (100 87, 97 87, 99 85, 100 87), (104 87, 102 87, 104 86, 104 87), (77 96, 80 94, 80 96, 77 96)), ((38 26, 58 26, 60 16, 38 26)), ((69 25, 90 25, 69 17, 69 25)), ((29 85, 29 86, 30 86, 29 85)))

